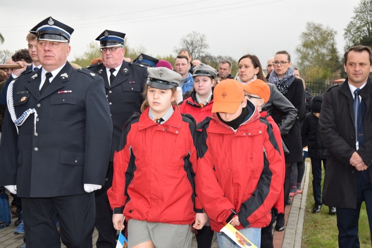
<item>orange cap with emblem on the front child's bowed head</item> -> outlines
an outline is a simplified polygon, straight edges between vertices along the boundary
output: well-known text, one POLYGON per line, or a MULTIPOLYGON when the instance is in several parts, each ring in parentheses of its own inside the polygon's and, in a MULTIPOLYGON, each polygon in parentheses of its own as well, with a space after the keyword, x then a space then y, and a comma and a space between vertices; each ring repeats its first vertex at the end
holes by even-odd
POLYGON ((235 79, 222 80, 213 90, 212 113, 235 114, 243 100, 243 84, 235 79))

